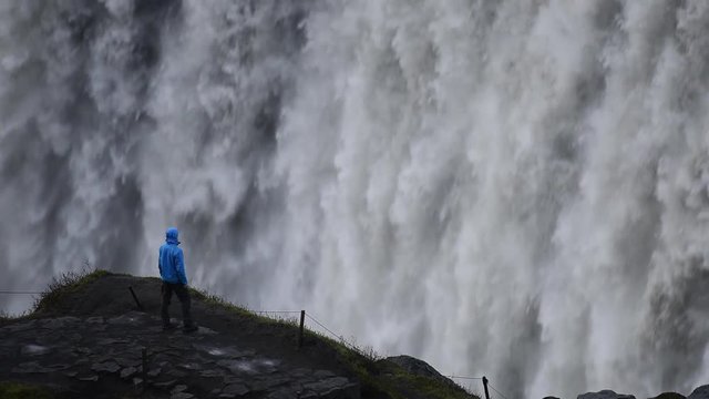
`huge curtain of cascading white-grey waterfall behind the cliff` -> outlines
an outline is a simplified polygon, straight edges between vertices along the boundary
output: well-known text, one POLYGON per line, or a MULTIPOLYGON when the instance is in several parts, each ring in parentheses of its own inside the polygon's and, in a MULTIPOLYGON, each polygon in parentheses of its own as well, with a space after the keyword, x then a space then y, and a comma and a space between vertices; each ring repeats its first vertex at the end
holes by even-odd
POLYGON ((194 285, 508 396, 687 393, 707 27, 703 0, 0 2, 4 284, 154 275, 176 225, 194 285))

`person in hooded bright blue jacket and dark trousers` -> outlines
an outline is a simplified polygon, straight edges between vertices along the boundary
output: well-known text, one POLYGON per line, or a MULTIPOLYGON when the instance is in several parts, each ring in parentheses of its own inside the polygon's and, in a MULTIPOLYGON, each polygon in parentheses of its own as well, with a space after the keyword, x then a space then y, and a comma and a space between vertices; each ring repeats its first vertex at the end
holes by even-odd
POLYGON ((174 291, 182 304, 183 330, 192 332, 197 330, 197 326, 192 320, 189 313, 191 299, 189 290, 187 290, 187 275, 185 274, 185 256, 179 247, 178 236, 177 228, 168 228, 165 233, 165 244, 160 247, 157 268, 160 277, 163 279, 161 317, 163 318, 163 330, 176 327, 169 323, 167 309, 174 291))

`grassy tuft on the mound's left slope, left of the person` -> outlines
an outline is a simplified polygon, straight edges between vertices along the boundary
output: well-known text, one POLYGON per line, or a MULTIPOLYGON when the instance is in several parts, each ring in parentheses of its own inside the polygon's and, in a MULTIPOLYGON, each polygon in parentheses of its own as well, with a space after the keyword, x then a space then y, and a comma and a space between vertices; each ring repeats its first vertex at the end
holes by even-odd
POLYGON ((111 273, 106 270, 96 268, 83 268, 79 272, 62 273, 61 276, 52 278, 52 282, 47 286, 42 294, 40 294, 39 298, 34 300, 32 311, 55 310, 61 300, 68 295, 71 295, 86 284, 110 274, 111 273))

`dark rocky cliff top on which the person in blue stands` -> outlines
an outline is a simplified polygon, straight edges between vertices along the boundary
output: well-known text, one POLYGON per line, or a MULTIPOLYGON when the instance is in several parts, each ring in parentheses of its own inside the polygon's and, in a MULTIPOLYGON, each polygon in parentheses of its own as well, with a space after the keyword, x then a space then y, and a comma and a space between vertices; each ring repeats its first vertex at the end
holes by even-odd
POLYGON ((309 330, 298 348, 296 324, 197 290, 199 330, 163 331, 160 284, 104 270, 64 275, 31 314, 0 319, 0 396, 473 398, 417 359, 377 359, 309 330))

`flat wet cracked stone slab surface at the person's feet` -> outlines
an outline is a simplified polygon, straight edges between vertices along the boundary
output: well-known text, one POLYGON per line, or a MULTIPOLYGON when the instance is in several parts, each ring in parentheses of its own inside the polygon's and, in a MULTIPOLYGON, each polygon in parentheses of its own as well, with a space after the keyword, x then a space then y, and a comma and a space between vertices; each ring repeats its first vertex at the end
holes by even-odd
POLYGON ((172 399, 360 397, 356 381, 332 370, 259 355, 208 328, 185 335, 160 325, 137 311, 13 323, 0 328, 0 352, 9 354, 0 379, 51 381, 75 392, 107 383, 172 399))

